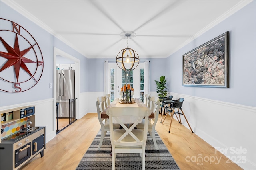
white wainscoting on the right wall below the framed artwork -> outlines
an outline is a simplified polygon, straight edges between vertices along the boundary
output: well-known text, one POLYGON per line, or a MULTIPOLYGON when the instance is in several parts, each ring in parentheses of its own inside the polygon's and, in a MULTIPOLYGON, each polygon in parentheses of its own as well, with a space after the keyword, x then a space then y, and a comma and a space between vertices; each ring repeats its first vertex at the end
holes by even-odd
MULTIPOLYGON (((255 107, 172 92, 169 95, 173 95, 174 100, 185 99, 182 110, 196 135, 231 160, 235 160, 243 169, 256 169, 255 107)), ((184 118, 182 124, 189 128, 184 118)))

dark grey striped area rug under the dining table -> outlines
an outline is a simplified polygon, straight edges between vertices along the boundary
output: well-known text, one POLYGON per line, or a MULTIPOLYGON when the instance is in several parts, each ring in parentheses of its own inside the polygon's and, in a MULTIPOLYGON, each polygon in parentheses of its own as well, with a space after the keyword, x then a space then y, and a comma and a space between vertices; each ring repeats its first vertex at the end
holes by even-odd
MULTIPOLYGON (((89 149, 84 154, 76 170, 111 170, 112 157, 110 134, 107 133, 98 150, 101 132, 99 131, 89 149)), ((172 155, 164 145, 163 141, 156 132, 156 142, 159 150, 154 147, 153 140, 148 134, 146 143, 146 170, 179 170, 172 155)), ((140 154, 117 154, 116 170, 140 170, 140 154)))

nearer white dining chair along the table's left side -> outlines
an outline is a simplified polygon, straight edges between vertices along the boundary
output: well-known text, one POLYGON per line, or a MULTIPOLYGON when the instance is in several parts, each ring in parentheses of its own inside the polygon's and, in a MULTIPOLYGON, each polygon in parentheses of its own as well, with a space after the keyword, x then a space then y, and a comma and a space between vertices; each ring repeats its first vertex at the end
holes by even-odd
MULTIPOLYGON (((109 131, 109 120, 101 118, 102 111, 104 111, 106 109, 106 98, 104 96, 100 96, 97 98, 96 108, 97 108, 98 119, 99 119, 100 126, 101 126, 101 137, 100 137, 100 143, 98 146, 98 150, 100 150, 100 147, 103 143, 106 133, 107 133, 107 131, 109 131)), ((119 127, 120 127, 120 125, 114 124, 114 128, 118 129, 119 127)))

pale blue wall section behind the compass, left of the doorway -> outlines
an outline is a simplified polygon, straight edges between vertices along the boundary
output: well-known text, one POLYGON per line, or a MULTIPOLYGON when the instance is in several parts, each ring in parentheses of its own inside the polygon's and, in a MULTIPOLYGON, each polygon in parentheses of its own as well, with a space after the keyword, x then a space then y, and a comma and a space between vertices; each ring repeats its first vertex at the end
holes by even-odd
MULTIPOLYGON (((28 91, 21 93, 0 92, 1 106, 8 106, 35 100, 53 98, 53 90, 49 88, 49 83, 53 82, 53 43, 54 36, 32 23, 30 20, 12 10, 6 4, 0 2, 1 18, 14 21, 24 27, 36 39, 44 58, 44 70, 40 81, 28 91)), ((2 51, 2 49, 1 49, 2 51)), ((3 63, 1 63, 2 66, 3 63)))

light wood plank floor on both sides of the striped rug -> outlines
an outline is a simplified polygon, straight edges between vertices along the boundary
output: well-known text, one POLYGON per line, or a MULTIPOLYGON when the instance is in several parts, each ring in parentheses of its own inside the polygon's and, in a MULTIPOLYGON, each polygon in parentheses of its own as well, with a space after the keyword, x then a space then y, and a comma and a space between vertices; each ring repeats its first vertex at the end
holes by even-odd
MULTIPOLYGON (((168 133, 170 116, 164 124, 160 123, 159 116, 156 129, 162 141, 172 154, 181 170, 241 170, 228 160, 220 152, 215 153, 212 146, 200 139, 189 129, 179 124, 176 120, 172 123, 168 133), (196 162, 193 158, 202 157, 202 162, 196 162), (211 158, 218 158, 214 162, 211 158), (229 161, 228 161, 229 162, 229 161)), ((75 170, 82 156, 92 143, 100 129, 100 123, 96 113, 88 113, 82 119, 58 133, 58 135, 46 144, 44 157, 38 154, 22 170, 75 170)))

